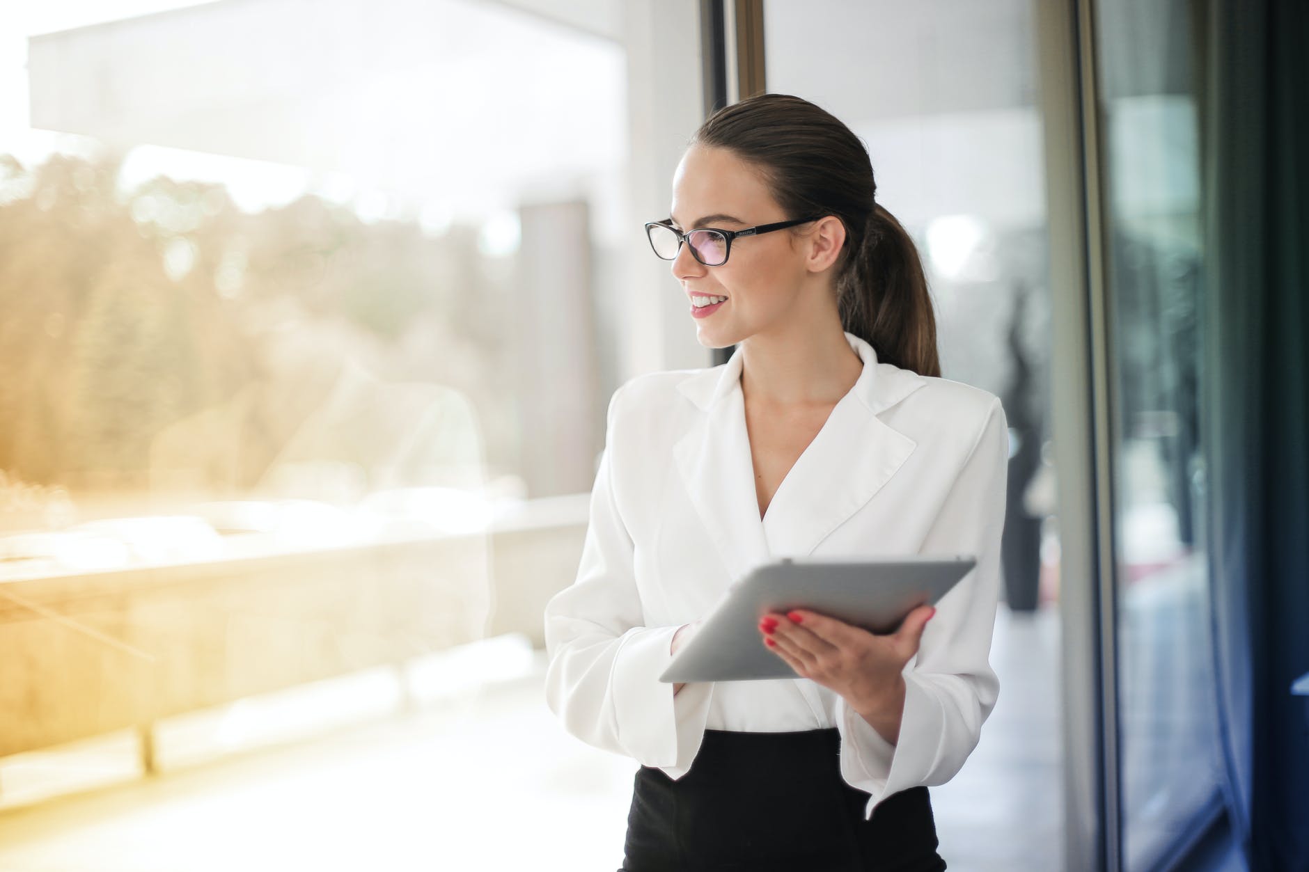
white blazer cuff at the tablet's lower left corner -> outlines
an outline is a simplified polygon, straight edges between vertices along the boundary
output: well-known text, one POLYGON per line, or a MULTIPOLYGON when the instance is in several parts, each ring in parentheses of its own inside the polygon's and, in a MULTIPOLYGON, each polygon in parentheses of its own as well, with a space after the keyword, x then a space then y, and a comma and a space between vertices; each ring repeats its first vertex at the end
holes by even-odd
POLYGON ((658 680, 673 661, 669 647, 678 627, 634 627, 623 634, 611 672, 618 744, 644 766, 681 778, 704 740, 713 682, 674 685, 658 680))

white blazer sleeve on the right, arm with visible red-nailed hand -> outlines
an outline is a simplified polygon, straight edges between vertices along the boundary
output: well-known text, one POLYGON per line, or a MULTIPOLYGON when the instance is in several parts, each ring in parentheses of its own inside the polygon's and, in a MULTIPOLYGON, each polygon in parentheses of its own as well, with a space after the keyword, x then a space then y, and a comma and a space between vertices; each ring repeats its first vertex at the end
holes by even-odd
POLYGON ((1000 682, 988 657, 1000 596, 1008 460, 1008 423, 996 398, 923 543, 923 554, 974 554, 977 566, 937 602, 906 666, 898 742, 888 742, 836 697, 842 776, 872 795, 869 818, 899 791, 950 780, 995 708, 1000 682))

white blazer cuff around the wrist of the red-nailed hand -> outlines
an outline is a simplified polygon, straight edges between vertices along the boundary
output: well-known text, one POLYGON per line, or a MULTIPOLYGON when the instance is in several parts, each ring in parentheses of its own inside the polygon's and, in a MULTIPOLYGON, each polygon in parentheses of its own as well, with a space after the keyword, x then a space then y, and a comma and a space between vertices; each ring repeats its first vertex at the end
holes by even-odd
POLYGON ((905 673, 905 711, 899 741, 891 745, 872 724, 836 698, 840 725, 840 774, 846 783, 869 793, 865 817, 877 805, 910 787, 927 782, 936 766, 945 712, 937 699, 912 672, 905 673))

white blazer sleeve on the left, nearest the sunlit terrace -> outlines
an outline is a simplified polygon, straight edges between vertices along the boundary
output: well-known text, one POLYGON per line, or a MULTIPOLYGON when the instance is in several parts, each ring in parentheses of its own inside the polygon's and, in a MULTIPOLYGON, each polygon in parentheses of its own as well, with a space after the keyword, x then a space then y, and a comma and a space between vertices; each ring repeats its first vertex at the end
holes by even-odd
POLYGON ((546 704, 584 742, 679 778, 704 736, 712 683, 687 683, 674 697, 673 685, 658 681, 678 627, 644 626, 635 546, 615 496, 615 470, 630 448, 623 390, 609 402, 577 577, 546 604, 546 704))

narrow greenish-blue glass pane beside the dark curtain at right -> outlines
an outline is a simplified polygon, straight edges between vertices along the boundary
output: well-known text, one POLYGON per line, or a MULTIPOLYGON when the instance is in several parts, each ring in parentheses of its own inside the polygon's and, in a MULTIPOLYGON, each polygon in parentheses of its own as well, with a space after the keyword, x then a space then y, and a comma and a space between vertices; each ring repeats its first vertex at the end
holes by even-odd
POLYGON ((1127 869, 1156 868, 1219 784, 1200 516, 1192 9, 1097 4, 1127 869))

